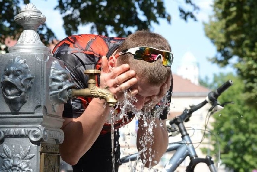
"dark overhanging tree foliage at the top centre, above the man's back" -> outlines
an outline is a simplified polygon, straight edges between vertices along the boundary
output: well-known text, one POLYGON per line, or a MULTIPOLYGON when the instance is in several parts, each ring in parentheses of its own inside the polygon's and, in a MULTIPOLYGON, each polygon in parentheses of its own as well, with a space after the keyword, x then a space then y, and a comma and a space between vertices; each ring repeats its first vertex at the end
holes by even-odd
MULTIPOLYGON (((59 0, 58 9, 63 15, 64 28, 67 35, 78 31, 79 25, 92 24, 91 32, 108 35, 116 34, 124 37, 133 30, 150 29, 152 23, 157 23, 159 18, 167 19, 170 23, 171 16, 167 13, 163 0, 59 0)), ((198 7, 189 0, 186 3, 194 9, 198 7)), ((180 16, 184 20, 195 19, 190 11, 179 7, 180 16)))

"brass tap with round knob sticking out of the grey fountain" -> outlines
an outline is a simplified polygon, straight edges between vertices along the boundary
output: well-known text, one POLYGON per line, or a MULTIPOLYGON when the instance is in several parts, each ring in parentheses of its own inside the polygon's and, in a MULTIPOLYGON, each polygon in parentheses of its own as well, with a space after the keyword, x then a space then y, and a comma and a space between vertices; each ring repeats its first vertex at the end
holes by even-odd
POLYGON ((118 101, 114 98, 113 93, 108 90, 108 87, 104 89, 96 86, 95 76, 101 74, 100 70, 89 69, 85 70, 84 74, 89 75, 88 78, 88 88, 84 89, 70 89, 68 91, 68 96, 73 97, 99 97, 99 99, 105 99, 110 107, 113 107, 118 101))

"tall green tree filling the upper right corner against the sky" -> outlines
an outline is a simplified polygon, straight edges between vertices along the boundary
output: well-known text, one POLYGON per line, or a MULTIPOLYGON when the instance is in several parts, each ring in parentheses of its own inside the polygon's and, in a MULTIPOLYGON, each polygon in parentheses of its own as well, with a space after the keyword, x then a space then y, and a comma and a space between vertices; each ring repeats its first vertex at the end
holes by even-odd
POLYGON ((257 1, 214 0, 214 15, 205 33, 217 47, 211 60, 221 66, 236 60, 234 67, 243 79, 245 99, 257 109, 257 1))

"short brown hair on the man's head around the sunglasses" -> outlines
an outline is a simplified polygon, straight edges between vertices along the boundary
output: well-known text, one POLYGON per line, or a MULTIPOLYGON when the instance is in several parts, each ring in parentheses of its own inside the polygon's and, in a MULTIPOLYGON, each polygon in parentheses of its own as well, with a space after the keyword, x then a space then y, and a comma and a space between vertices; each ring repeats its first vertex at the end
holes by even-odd
MULTIPOLYGON (((117 53, 129 48, 147 46, 160 50, 171 51, 170 44, 160 34, 150 31, 137 31, 127 38, 118 48, 117 53)), ((164 83, 171 75, 170 67, 163 66, 161 59, 149 63, 144 60, 136 60, 132 54, 124 54, 117 58, 117 64, 129 64, 130 69, 135 70, 138 76, 143 76, 145 80, 153 85, 160 85, 164 83)))

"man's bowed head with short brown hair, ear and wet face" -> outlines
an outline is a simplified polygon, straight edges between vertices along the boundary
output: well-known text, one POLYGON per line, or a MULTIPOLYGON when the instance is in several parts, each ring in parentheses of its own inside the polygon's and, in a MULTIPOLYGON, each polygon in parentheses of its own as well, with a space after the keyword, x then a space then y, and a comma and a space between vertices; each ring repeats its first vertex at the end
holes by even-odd
POLYGON ((134 55, 132 55, 133 53, 121 53, 122 55, 120 55, 120 52, 135 47, 152 47, 158 49, 157 52, 161 50, 161 54, 163 54, 163 50, 171 51, 171 48, 168 41, 161 35, 149 31, 137 31, 125 38, 125 41, 116 51, 119 56, 117 58, 112 57, 116 61, 116 66, 129 64, 130 70, 135 71, 138 81, 130 89, 138 90, 138 94, 135 95, 137 98, 135 106, 137 109, 142 109, 144 105, 147 105, 154 99, 160 99, 160 97, 166 95, 167 89, 170 88, 171 80, 169 78, 171 76, 171 68, 170 66, 163 65, 163 57, 158 58, 154 62, 147 62, 135 59, 134 55), (165 87, 163 87, 164 83, 166 83, 165 87))

